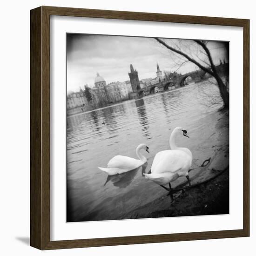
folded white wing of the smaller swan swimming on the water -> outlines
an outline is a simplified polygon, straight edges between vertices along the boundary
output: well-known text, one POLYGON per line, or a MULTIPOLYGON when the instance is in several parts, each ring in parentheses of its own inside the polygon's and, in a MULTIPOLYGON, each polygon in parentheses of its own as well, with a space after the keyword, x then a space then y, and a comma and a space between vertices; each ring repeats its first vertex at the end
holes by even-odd
POLYGON ((116 155, 108 162, 108 168, 121 168, 121 169, 131 169, 139 167, 140 161, 124 156, 124 155, 116 155))

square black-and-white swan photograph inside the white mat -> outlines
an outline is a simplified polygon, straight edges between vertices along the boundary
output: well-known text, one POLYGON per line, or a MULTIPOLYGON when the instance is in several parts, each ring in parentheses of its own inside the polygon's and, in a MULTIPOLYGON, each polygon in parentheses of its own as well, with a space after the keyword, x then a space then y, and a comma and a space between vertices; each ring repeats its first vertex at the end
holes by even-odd
POLYGON ((229 214, 229 42, 66 34, 67 222, 229 214))

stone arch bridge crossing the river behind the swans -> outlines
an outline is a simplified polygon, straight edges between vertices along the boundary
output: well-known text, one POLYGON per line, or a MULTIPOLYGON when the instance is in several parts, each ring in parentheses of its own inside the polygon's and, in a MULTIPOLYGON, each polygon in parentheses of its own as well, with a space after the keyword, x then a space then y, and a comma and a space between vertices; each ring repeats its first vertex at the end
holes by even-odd
POLYGON ((158 83, 154 85, 148 85, 145 88, 141 88, 137 91, 138 96, 143 96, 143 95, 148 95, 148 94, 153 94, 156 91, 162 92, 162 91, 167 91, 172 88, 178 88, 182 87, 186 84, 186 79, 189 78, 189 81, 192 82, 200 82, 204 79, 205 76, 205 71, 203 70, 196 70, 189 72, 187 74, 177 74, 176 77, 173 77, 169 80, 162 80, 159 81, 158 83), (155 90, 157 88, 157 90, 155 90))

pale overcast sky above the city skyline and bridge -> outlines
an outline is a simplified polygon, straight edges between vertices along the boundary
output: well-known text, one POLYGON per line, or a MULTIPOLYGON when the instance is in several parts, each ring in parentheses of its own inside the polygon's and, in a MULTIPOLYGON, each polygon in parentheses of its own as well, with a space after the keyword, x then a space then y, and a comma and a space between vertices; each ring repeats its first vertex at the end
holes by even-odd
MULTIPOLYGON (((227 61, 222 42, 211 41, 207 46, 216 63, 220 59, 227 61)), ((204 59, 204 54, 200 58, 204 59)), ((162 71, 175 71, 181 60, 153 38, 67 34, 67 92, 78 91, 85 84, 93 87, 97 72, 107 84, 127 81, 130 64, 137 69, 140 80, 154 78, 156 62, 162 71)), ((185 63, 178 72, 185 74, 195 69, 194 64, 185 63)))

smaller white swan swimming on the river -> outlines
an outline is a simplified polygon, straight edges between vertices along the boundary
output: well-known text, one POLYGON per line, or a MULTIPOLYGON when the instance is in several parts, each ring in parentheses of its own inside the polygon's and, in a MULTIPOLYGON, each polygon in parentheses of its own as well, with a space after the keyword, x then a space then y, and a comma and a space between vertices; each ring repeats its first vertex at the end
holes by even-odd
POLYGON ((148 146, 146 144, 140 144, 136 148, 136 154, 139 157, 139 159, 135 159, 124 155, 116 155, 108 162, 108 168, 98 168, 106 172, 108 175, 121 174, 124 172, 134 170, 135 168, 138 168, 139 166, 148 161, 147 158, 141 154, 141 149, 145 149, 149 153, 148 146))

